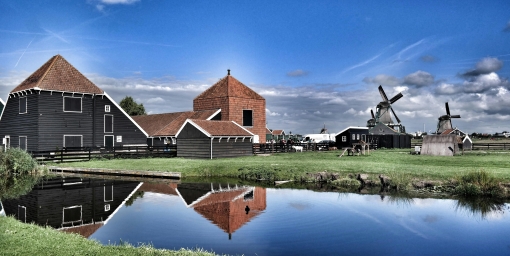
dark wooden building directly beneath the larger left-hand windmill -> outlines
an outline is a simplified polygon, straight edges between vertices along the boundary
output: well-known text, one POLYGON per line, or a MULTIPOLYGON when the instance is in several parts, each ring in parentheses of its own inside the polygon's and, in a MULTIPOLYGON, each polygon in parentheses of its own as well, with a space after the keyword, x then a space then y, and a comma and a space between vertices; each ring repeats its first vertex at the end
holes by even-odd
POLYGON ((376 148, 411 148, 412 136, 378 123, 368 131, 367 142, 376 148))

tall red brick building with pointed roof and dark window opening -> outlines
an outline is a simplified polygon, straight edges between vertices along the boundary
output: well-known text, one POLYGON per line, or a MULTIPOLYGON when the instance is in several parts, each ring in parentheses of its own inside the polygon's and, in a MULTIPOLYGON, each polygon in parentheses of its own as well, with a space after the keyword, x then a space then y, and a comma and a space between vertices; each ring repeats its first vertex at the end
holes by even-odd
POLYGON ((222 121, 234 121, 255 134, 255 143, 266 138, 266 100, 230 75, 193 100, 193 110, 221 109, 222 121))

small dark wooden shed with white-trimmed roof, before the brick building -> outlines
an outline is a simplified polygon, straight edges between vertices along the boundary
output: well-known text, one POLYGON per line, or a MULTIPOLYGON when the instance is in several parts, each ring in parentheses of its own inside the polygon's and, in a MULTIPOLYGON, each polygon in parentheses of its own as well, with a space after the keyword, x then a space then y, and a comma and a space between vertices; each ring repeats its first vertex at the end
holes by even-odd
POLYGON ((234 121, 188 119, 179 129, 177 156, 223 158, 253 154, 254 134, 234 121))

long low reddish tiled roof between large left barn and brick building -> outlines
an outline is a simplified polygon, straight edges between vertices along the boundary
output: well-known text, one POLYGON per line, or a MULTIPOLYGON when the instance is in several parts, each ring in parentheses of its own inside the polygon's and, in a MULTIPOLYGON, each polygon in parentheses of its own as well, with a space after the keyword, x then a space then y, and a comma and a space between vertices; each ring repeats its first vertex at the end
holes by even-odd
POLYGON ((138 125, 144 129, 149 136, 175 136, 179 128, 186 122, 186 119, 203 119, 210 118, 218 110, 204 111, 187 111, 165 114, 132 116, 138 125))

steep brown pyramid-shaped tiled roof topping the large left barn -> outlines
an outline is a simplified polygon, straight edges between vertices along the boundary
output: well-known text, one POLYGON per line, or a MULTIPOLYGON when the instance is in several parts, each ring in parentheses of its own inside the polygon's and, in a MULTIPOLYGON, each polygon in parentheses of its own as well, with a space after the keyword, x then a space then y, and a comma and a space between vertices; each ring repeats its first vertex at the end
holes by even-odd
POLYGON ((104 93, 60 55, 53 56, 11 93, 33 88, 90 94, 104 93))

